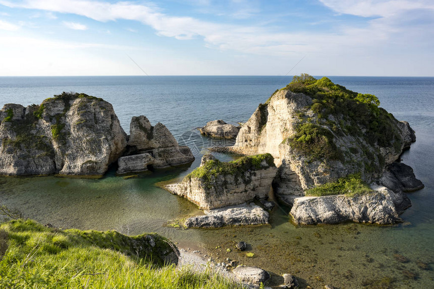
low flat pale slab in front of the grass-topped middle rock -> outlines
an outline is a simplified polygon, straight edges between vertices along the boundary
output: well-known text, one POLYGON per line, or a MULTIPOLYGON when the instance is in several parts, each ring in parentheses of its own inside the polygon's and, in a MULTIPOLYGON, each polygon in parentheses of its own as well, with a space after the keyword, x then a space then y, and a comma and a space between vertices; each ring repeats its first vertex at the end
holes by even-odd
POLYGON ((186 228, 220 228, 224 226, 268 224, 269 214, 254 203, 205 210, 205 215, 185 221, 186 228))

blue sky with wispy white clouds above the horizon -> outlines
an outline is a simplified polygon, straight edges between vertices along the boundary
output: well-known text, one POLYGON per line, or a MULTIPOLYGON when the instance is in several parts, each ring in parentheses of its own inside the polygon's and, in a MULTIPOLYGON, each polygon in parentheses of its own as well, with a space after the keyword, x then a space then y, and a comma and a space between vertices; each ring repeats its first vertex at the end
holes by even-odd
POLYGON ((434 76, 433 0, 0 0, 0 76, 434 76))

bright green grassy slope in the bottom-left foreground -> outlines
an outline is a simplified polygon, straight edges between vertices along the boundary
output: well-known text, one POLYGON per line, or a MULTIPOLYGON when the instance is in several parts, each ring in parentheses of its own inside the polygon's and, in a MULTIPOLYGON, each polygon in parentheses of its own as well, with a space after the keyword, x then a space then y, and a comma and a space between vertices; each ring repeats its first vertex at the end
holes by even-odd
MULTIPOLYGON (((146 241, 139 242, 136 252, 128 249, 143 236, 63 231, 31 220, 4 223, 0 226, 0 287, 241 288, 206 270, 195 273, 189 268, 161 265, 158 254, 141 255, 150 248, 146 241)), ((155 247, 165 240, 156 234, 146 236, 154 238, 155 247)), ((165 242, 161 246, 172 250, 165 242)))

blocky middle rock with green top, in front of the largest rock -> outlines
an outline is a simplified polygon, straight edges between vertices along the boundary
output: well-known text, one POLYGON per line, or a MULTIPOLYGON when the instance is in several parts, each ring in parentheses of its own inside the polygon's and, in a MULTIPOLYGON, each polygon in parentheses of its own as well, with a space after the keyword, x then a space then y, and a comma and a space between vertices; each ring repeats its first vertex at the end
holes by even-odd
POLYGON ((200 209, 209 210, 267 198, 276 172, 269 154, 243 157, 229 163, 211 159, 182 182, 166 188, 200 209))

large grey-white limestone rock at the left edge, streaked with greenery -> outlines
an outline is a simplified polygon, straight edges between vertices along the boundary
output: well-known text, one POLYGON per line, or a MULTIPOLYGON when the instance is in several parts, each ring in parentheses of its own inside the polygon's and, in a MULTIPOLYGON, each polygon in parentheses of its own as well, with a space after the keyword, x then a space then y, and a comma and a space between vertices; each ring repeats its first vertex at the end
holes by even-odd
POLYGON ((0 119, 2 175, 102 175, 127 144, 112 105, 85 94, 6 104, 0 119))

